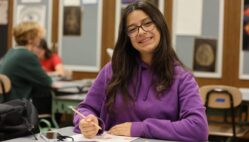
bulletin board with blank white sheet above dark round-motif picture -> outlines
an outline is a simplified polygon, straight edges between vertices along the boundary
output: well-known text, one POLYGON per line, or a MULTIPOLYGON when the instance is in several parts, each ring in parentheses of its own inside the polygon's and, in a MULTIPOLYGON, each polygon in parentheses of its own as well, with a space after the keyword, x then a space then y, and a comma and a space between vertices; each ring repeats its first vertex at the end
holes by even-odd
POLYGON ((174 0, 173 47, 196 77, 221 78, 224 0, 174 0))

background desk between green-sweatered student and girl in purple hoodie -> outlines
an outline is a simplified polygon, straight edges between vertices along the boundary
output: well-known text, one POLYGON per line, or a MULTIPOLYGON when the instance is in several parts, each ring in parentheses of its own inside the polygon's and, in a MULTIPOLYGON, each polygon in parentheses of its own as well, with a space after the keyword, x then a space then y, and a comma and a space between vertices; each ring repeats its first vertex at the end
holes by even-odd
POLYGON ((55 114, 73 114, 70 107, 75 108, 84 100, 91 84, 92 80, 55 81, 53 83, 52 121, 56 128, 59 128, 59 125, 55 114))

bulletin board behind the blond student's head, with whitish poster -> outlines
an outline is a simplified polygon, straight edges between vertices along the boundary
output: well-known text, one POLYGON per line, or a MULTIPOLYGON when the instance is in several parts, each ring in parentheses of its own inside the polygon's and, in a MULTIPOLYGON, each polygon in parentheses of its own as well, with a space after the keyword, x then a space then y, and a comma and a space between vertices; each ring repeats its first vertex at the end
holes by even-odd
MULTIPOLYGON (((35 21, 46 30, 45 39, 51 48, 52 0, 14 0, 14 26, 23 21, 35 21)), ((13 41, 14 42, 14 41, 13 41)))

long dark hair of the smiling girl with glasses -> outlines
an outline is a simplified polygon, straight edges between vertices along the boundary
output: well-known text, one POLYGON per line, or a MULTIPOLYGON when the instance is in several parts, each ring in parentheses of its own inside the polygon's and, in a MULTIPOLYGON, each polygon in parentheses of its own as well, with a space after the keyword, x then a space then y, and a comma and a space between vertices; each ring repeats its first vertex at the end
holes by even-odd
POLYGON ((136 1, 128 5, 122 14, 118 39, 112 56, 113 76, 106 90, 106 107, 109 111, 112 110, 117 92, 120 92, 125 100, 133 99, 128 91, 128 84, 131 83, 132 78, 136 75, 139 52, 131 44, 130 38, 127 35, 126 23, 127 16, 134 10, 142 10, 145 12, 155 23, 161 35, 160 42, 154 51, 150 66, 156 75, 153 84, 155 90, 158 92, 158 97, 160 97, 161 92, 169 88, 173 82, 174 64, 178 63, 183 66, 172 48, 165 18, 158 8, 147 1, 136 1))

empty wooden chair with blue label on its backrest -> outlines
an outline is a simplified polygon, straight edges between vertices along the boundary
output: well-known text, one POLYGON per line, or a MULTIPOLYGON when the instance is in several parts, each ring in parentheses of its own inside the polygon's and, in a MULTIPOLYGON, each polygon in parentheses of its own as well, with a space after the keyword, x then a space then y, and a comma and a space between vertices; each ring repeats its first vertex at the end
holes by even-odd
MULTIPOLYGON (((238 88, 224 85, 206 85, 200 88, 208 117, 209 135, 230 137, 244 136, 248 126, 243 125, 242 94, 238 88)), ((247 119, 247 110, 245 118, 247 119)))

